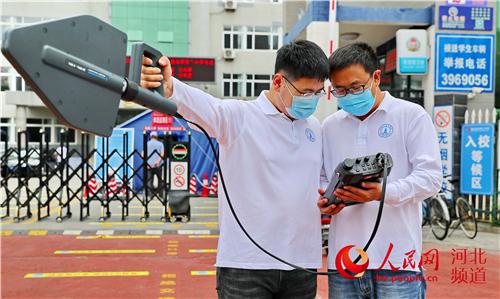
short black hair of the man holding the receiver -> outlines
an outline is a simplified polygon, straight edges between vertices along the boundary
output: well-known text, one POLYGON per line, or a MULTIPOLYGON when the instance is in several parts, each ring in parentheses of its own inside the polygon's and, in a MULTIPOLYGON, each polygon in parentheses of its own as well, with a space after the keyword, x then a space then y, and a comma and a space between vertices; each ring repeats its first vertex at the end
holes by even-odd
POLYGON ((332 53, 328 62, 330 74, 355 64, 362 65, 370 75, 380 68, 375 50, 370 45, 360 42, 338 48, 332 53))

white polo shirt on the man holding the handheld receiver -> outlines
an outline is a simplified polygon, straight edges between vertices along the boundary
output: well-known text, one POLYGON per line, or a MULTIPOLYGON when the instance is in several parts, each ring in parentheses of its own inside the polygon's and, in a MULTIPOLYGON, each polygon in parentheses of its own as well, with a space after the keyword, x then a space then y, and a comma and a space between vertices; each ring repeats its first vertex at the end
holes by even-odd
MULTIPOLYGON (((388 177, 385 206, 380 226, 367 253, 368 269, 376 269, 388 252, 393 266, 402 267, 413 254, 418 271, 422 252, 422 201, 441 188, 441 163, 436 130, 419 105, 396 99, 388 92, 376 111, 364 121, 343 110, 323 123, 324 173, 330 178, 345 158, 389 153, 394 166, 388 177)), ((324 180, 325 177, 322 177, 324 180)), ((324 183, 324 182, 323 182, 324 183)), ((375 224, 379 201, 344 208, 330 226, 328 267, 336 269, 335 256, 341 248, 363 248, 375 224)), ((355 252, 352 255, 355 257, 355 252)), ((390 269, 387 262, 383 269, 390 269)))

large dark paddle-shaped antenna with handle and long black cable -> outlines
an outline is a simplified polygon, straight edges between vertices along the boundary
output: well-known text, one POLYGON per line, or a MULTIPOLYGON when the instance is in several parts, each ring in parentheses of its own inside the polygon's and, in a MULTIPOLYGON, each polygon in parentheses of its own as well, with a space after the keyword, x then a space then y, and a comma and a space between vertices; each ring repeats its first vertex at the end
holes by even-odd
MULTIPOLYGON (((144 43, 134 44, 129 78, 125 78, 126 45, 125 33, 93 16, 82 15, 9 29, 2 39, 2 53, 44 104, 69 127, 109 137, 120 99, 183 118, 177 113, 176 104, 163 97, 163 86, 153 91, 140 87, 143 55, 159 67, 158 60, 162 54, 144 43)), ((231 203, 219 157, 209 134, 200 125, 186 121, 208 138, 228 206, 246 237, 261 251, 292 268, 317 275, 335 273, 314 272, 294 265, 273 255, 250 236, 231 203)), ((379 155, 382 157, 377 161, 384 161, 381 162, 383 165, 377 164, 379 171, 383 167, 382 199, 374 230, 364 251, 378 229, 384 203, 388 155, 379 155)), ((358 256, 354 263, 360 258, 358 256)))

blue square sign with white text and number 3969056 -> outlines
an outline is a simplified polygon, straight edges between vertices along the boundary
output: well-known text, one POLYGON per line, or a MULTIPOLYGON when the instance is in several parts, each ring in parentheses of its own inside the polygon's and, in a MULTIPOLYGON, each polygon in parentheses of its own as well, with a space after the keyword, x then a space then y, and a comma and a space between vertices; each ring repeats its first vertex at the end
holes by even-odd
POLYGON ((437 92, 493 92, 495 36, 437 33, 435 66, 437 92))

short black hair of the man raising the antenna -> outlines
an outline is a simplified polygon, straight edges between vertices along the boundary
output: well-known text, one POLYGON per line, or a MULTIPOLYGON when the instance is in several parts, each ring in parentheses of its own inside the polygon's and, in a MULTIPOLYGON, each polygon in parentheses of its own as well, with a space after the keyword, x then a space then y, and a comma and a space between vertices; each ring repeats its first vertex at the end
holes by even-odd
POLYGON ((307 40, 293 41, 278 50, 274 73, 285 72, 289 80, 328 78, 328 57, 315 43, 307 40))

